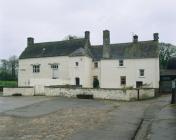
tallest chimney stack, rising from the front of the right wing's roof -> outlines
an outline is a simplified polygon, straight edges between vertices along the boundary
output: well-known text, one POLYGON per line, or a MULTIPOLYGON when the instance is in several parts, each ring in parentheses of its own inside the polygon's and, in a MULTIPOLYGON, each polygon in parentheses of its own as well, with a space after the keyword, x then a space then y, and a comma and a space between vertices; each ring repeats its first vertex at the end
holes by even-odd
POLYGON ((103 58, 110 57, 110 32, 108 30, 103 31, 103 58))

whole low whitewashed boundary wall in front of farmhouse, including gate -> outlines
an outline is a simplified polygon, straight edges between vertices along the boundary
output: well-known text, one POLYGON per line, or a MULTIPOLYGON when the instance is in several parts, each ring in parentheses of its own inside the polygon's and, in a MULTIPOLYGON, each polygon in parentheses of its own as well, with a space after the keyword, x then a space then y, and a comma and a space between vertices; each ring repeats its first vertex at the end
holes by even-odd
POLYGON ((3 95, 10 96, 20 93, 23 96, 46 95, 46 96, 64 96, 77 97, 77 95, 93 95, 95 99, 109 100, 137 100, 147 99, 155 96, 155 89, 89 89, 89 88, 4 88, 3 95), (39 91, 42 89, 42 92, 39 91), (39 94, 40 93, 40 94, 39 94), (41 94, 42 93, 42 94, 41 94), (138 94, 139 93, 139 94, 138 94), (139 96, 138 96, 139 95, 139 96))

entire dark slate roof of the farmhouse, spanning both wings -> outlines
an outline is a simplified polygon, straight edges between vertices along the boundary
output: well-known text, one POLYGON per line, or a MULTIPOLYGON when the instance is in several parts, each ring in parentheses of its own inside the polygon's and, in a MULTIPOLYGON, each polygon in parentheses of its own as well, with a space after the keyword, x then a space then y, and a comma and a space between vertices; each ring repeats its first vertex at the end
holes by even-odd
MULTIPOLYGON (((27 47, 20 59, 54 57, 54 56, 90 56, 93 60, 103 59, 103 45, 92 45, 85 48, 86 39, 71 39, 58 42, 35 43, 27 47)), ((109 59, 158 58, 157 41, 140 41, 137 43, 110 44, 109 59)))

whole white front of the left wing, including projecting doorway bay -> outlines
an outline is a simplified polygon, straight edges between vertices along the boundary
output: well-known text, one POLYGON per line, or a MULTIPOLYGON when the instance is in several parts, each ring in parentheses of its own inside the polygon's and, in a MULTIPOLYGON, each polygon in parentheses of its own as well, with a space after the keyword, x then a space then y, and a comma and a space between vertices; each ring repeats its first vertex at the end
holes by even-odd
POLYGON ((80 78, 83 87, 92 87, 92 59, 89 57, 47 57, 19 60, 19 86, 75 85, 75 78, 80 78), (76 66, 75 62, 79 65, 76 66), (58 63, 58 79, 52 79, 51 65, 58 63), (40 64, 40 72, 33 73, 33 66, 40 64))

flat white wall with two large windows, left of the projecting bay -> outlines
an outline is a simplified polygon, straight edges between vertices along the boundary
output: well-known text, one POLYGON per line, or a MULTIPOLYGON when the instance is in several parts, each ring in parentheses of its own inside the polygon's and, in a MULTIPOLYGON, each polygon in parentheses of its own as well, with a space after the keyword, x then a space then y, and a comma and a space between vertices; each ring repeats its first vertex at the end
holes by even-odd
MULTIPOLYGON (((19 86, 34 85, 55 85, 55 83, 70 84, 69 77, 69 57, 47 57, 47 58, 30 58, 19 60, 19 86), (59 79, 52 79, 51 63, 58 63, 59 79), (34 64, 40 64, 40 72, 33 73, 34 64)), ((58 84, 57 84, 58 85, 58 84)))

